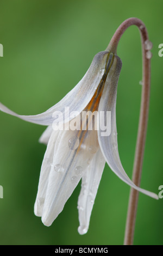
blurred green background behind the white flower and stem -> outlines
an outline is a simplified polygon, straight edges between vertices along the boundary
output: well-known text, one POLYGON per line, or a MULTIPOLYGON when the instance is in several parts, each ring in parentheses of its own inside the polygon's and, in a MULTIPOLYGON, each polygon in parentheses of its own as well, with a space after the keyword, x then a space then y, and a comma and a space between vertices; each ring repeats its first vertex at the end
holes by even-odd
MULTIPOLYGON (((162 1, 0 2, 0 101, 20 114, 45 111, 83 77, 93 56, 105 50, 129 17, 145 22, 153 42, 151 105, 141 187, 159 193, 162 179, 162 1)), ((122 71, 117 93, 118 148, 131 177, 140 110, 142 59, 139 31, 130 27, 118 45, 122 71)), ((0 113, 1 245, 121 245, 130 187, 105 166, 90 228, 79 235, 80 184, 51 227, 34 215, 40 167, 46 147, 38 142, 44 126, 0 113)), ((135 245, 162 245, 163 199, 140 194, 135 245)))

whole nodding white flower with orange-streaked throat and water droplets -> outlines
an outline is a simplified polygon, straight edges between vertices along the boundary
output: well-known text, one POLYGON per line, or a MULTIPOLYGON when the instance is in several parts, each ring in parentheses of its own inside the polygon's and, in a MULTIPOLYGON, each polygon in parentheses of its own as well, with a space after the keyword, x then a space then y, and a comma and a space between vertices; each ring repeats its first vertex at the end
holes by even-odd
POLYGON ((91 211, 102 177, 105 162, 124 182, 136 190, 155 199, 152 192, 137 187, 124 171, 117 147, 116 94, 122 62, 116 54, 103 51, 96 54, 82 80, 60 102, 38 115, 18 115, 0 103, 1 111, 15 115, 35 124, 48 126, 40 138, 47 144, 43 158, 39 187, 34 206, 36 216, 42 217, 43 224, 49 226, 60 214, 67 199, 82 179, 82 189, 78 198, 80 226, 78 231, 85 234, 89 228, 91 211), (68 129, 74 121, 70 113, 78 112, 82 124, 77 129, 68 129), (96 129, 96 118, 92 130, 89 117, 82 119, 84 112, 103 113, 96 129), (54 113, 64 113, 58 123, 64 123, 64 130, 53 129, 54 113), (107 112, 111 112, 108 124, 107 112), (104 136, 102 122, 111 127, 111 133, 104 136), (84 129, 83 126, 85 127, 84 129))

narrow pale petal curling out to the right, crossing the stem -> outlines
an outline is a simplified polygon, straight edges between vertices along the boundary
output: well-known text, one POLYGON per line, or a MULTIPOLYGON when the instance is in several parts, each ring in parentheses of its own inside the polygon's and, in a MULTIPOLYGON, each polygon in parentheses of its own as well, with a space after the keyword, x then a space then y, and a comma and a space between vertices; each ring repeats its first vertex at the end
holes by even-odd
MULTIPOLYGON (((122 163, 120 160, 120 156, 118 153, 118 145, 117 145, 117 129, 116 129, 116 94, 117 94, 117 83, 118 77, 120 75, 121 70, 121 60, 117 56, 114 58, 114 63, 111 66, 108 77, 106 78, 103 94, 101 97, 101 101, 99 102, 99 113, 104 111, 104 120, 107 126, 111 125, 111 134, 110 136, 103 136, 102 129, 98 130, 98 142, 103 153, 103 156, 108 163, 111 170, 126 184, 135 188, 136 190, 147 194, 150 197, 158 199, 158 195, 146 190, 143 190, 140 187, 137 187, 133 181, 131 181, 126 174, 125 170, 122 167, 122 163), (107 123, 106 120, 106 111, 111 111, 111 124, 107 123)), ((101 121, 99 127, 101 128, 101 121)))

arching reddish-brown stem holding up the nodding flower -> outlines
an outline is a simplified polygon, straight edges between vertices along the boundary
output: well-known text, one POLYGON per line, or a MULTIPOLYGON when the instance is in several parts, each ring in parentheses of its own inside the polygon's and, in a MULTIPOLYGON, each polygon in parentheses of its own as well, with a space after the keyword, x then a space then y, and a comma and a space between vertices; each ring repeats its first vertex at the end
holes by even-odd
MULTIPOLYGON (((120 41, 122 34, 131 25, 136 25, 139 28, 141 34, 143 59, 143 84, 141 94, 141 108, 133 168, 133 182, 135 183, 135 185, 140 186, 143 155, 147 133, 152 57, 152 53, 149 51, 152 48, 152 43, 148 41, 147 29, 143 22, 136 18, 130 18, 124 21, 115 32, 108 47, 106 48, 106 51, 116 53, 117 45, 120 41)), ((138 197, 139 192, 134 190, 134 188, 131 188, 126 222, 126 231, 124 236, 124 245, 133 245, 138 197)))

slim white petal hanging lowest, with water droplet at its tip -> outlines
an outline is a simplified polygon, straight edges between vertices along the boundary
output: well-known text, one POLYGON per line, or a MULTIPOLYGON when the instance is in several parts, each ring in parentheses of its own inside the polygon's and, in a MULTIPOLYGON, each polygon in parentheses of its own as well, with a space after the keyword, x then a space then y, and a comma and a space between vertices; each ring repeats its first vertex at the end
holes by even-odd
POLYGON ((91 212, 95 202, 99 182, 101 181, 104 166, 105 159, 101 150, 99 149, 82 177, 82 189, 78 198, 80 223, 78 232, 80 235, 87 233, 89 228, 91 212))

